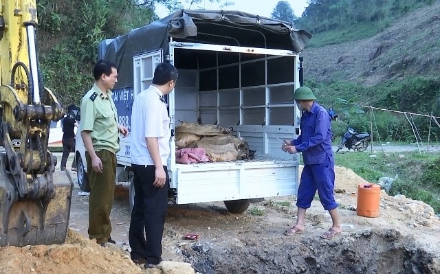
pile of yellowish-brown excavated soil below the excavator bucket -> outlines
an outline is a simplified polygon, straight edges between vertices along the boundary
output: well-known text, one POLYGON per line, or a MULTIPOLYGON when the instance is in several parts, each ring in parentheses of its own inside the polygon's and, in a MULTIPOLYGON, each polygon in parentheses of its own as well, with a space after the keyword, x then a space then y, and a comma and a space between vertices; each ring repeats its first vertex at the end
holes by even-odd
POLYGON ((69 229, 65 244, 3 247, 0 273, 142 273, 129 255, 69 229))

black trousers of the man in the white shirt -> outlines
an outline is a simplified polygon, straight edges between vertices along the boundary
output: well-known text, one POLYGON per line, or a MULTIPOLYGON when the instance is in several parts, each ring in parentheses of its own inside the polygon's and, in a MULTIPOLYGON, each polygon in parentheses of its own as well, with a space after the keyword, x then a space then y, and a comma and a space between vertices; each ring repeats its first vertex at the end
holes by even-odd
POLYGON ((148 264, 162 261, 162 235, 168 207, 168 171, 166 184, 155 187, 155 166, 134 165, 135 203, 131 211, 129 243, 131 259, 146 259, 148 264), (145 231, 145 235, 144 235, 145 231))

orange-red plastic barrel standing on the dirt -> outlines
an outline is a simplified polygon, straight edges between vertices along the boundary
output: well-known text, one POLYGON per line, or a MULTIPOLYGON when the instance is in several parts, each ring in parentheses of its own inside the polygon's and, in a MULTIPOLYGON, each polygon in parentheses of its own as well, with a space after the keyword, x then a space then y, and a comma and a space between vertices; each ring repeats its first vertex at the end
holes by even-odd
POLYGON ((364 217, 377 217, 380 205, 380 185, 361 183, 358 185, 358 206, 356 214, 364 217))

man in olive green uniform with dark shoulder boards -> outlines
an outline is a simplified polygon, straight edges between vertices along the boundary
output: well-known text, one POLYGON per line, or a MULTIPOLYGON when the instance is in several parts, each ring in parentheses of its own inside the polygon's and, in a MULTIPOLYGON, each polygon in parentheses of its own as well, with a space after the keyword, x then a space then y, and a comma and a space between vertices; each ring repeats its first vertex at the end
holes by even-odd
POLYGON ((94 68, 94 87, 81 100, 80 133, 86 148, 87 177, 90 184, 89 238, 104 246, 111 240, 110 212, 116 176, 119 133, 128 130, 118 124, 118 113, 111 91, 118 82, 113 63, 99 60, 94 68))

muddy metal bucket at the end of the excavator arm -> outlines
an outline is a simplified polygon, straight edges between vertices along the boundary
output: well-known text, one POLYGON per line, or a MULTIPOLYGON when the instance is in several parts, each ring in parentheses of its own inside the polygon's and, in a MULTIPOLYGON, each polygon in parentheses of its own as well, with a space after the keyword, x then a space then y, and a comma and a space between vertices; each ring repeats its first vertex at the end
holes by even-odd
POLYGON ((0 246, 24 247, 65 242, 69 228, 72 178, 66 171, 53 175, 54 195, 46 200, 19 197, 9 183, 5 155, 0 157, 0 246))

